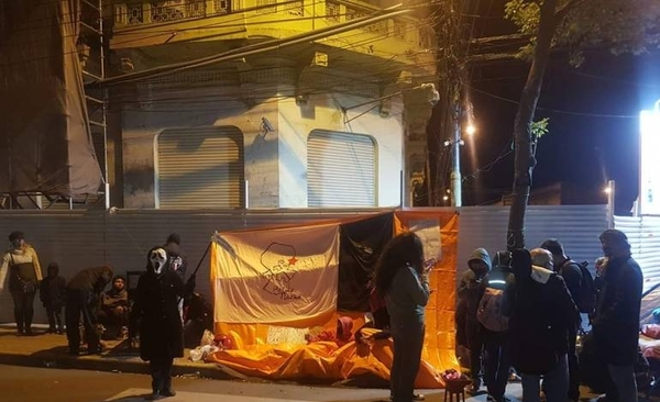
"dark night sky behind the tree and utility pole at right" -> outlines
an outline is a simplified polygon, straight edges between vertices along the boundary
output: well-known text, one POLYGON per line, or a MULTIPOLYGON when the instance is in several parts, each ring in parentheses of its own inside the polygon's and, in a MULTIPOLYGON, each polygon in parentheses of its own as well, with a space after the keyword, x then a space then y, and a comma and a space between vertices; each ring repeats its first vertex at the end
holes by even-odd
MULTIPOLYGON (((512 31, 508 23, 486 22, 480 36, 512 31)), ((638 115, 660 99, 660 53, 614 56, 600 51, 585 56, 574 68, 565 53, 556 52, 546 71, 536 120, 550 118, 550 133, 539 141, 532 190, 562 181, 602 191, 615 180, 615 212, 628 214, 638 192, 638 115)), ((507 152, 527 71, 528 65, 518 60, 472 69, 470 96, 479 132, 461 150, 466 205, 510 192, 514 155, 507 152)))

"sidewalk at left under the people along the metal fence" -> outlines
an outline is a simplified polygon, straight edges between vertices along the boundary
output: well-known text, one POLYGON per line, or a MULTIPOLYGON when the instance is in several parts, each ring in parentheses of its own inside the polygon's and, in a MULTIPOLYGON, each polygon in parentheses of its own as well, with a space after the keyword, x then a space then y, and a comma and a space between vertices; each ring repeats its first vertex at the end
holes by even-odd
MULTIPOLYGON (((0 364, 48 368, 148 373, 138 349, 129 348, 127 340, 102 340, 100 355, 67 355, 66 335, 48 334, 47 327, 33 326, 34 336, 16 336, 13 324, 0 324, 0 364)), ((176 376, 196 376, 211 379, 245 379, 244 376, 218 365, 195 362, 185 357, 175 359, 176 376)))

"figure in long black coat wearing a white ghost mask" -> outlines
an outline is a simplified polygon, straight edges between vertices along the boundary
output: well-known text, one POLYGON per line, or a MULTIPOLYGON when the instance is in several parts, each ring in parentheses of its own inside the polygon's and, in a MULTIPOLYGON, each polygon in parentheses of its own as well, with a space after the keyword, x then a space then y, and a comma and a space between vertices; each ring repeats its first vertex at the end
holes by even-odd
MULTIPOLYGON (((148 361, 152 394, 148 400, 174 397, 172 365, 184 356, 184 331, 178 313, 178 300, 184 282, 169 268, 169 256, 163 247, 148 252, 146 272, 135 289, 131 321, 139 322, 140 357, 148 361)), ((134 328, 134 325, 131 325, 134 328)))

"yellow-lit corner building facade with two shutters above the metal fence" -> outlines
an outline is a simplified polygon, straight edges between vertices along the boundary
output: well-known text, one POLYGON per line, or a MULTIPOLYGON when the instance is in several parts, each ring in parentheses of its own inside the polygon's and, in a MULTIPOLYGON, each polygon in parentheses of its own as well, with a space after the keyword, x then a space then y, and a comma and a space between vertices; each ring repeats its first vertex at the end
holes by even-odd
POLYGON ((110 5, 112 205, 409 204, 437 101, 425 2, 110 5))

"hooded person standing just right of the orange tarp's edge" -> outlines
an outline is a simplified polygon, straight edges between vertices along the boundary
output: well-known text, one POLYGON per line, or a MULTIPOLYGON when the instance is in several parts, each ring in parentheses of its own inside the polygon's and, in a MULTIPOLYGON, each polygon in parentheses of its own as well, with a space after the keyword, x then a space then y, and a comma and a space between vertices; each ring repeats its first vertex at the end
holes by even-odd
POLYGON ((458 304, 462 309, 457 309, 457 323, 464 325, 462 330, 470 349, 470 377, 472 384, 468 388, 470 394, 479 392, 482 384, 482 353, 484 349, 484 339, 482 327, 476 319, 479 302, 484 294, 484 278, 491 270, 491 255, 485 248, 476 248, 468 259, 468 270, 463 273, 459 284, 458 304))

